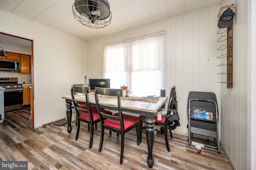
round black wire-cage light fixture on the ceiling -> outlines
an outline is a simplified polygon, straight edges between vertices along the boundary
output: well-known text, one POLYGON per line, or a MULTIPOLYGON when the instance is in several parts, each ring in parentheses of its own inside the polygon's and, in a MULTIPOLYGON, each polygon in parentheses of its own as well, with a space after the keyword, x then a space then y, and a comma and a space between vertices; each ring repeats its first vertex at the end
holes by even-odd
POLYGON ((107 0, 75 0, 72 10, 76 20, 90 28, 104 28, 111 22, 107 0))

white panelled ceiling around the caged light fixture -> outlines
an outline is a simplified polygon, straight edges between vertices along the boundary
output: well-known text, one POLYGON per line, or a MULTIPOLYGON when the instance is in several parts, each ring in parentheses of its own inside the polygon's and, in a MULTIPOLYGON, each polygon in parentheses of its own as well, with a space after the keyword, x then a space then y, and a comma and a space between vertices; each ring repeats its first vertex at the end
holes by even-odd
POLYGON ((74 0, 0 0, 0 8, 54 29, 88 40, 140 25, 192 12, 222 0, 108 0, 110 25, 93 29, 82 25, 72 14, 74 0))

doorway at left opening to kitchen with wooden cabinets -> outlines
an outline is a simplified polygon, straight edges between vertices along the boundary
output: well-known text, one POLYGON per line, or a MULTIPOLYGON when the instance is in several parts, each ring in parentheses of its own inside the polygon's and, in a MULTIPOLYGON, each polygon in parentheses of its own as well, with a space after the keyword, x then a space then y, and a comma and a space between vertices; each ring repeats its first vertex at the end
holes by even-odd
MULTIPOLYGON (((20 70, 0 70, 0 77, 17 78, 17 83, 22 84, 22 105, 23 108, 26 108, 26 110, 30 110, 30 120, 28 123, 30 123, 34 129, 33 40, 0 32, 0 47, 2 47, 3 51, 6 52, 6 56, 0 56, 0 59, 20 62, 20 70)), ((10 101, 8 101, 8 104, 10 104, 10 101)), ((17 110, 17 108, 14 107, 14 111, 15 110, 17 110)), ((10 111, 9 107, 8 111, 10 111)))

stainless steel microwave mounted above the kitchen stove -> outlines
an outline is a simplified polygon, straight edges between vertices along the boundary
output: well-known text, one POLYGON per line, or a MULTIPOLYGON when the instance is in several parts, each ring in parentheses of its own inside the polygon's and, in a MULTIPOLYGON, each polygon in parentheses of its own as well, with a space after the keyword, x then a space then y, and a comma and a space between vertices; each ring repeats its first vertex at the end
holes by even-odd
POLYGON ((20 71, 20 61, 0 59, 0 71, 20 71))

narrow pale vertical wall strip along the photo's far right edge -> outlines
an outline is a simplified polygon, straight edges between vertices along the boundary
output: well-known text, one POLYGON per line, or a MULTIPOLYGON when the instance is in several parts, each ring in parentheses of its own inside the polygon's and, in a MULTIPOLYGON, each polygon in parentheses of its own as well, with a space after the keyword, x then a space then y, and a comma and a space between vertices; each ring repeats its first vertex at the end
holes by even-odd
POLYGON ((256 6, 255 0, 248 0, 248 116, 247 116, 247 168, 256 169, 256 6))

